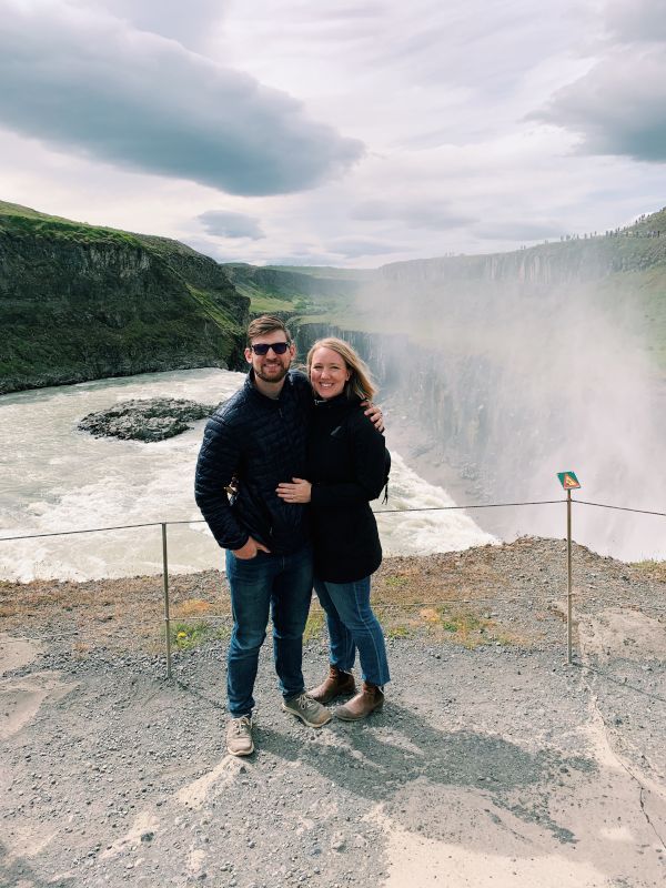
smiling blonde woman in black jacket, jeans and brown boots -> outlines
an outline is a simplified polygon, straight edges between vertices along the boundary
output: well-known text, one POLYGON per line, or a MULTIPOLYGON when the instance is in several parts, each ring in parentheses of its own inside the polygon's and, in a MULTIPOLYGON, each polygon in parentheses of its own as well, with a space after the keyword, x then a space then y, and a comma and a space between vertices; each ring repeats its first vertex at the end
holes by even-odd
POLYGON ((331 639, 329 677, 309 692, 330 703, 355 690, 356 649, 363 687, 334 715, 346 722, 365 718, 384 703, 390 680, 382 627, 370 605, 370 579, 382 562, 377 525, 370 508, 387 477, 383 435, 360 407, 375 393, 370 371, 339 339, 315 342, 307 354, 315 408, 309 442, 310 481, 280 484, 290 503, 311 503, 314 587, 331 639))

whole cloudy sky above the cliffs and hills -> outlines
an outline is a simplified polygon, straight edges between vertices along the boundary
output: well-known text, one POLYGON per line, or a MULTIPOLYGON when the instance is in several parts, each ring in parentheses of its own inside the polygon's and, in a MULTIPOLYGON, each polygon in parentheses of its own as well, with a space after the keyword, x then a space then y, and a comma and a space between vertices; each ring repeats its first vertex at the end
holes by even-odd
POLYGON ((663 0, 0 0, 0 200, 221 262, 515 250, 666 204, 663 0))

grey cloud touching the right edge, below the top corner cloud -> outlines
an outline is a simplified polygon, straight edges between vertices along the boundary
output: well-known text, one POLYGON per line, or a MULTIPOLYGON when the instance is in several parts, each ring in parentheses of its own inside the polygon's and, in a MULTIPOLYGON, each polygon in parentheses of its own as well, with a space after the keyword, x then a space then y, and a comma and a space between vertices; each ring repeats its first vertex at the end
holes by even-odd
POLYGON ((666 161, 666 46, 614 51, 534 117, 583 137, 591 154, 666 161))

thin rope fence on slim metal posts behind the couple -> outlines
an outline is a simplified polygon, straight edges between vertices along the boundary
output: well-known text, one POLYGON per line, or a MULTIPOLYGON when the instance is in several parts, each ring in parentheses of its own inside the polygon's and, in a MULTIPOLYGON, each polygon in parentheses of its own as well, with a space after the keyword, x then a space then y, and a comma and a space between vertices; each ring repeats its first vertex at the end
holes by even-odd
MULTIPOLYGON (((566 504, 567 507, 567 534, 566 534, 566 542, 567 542, 567 589, 566 589, 566 603, 567 603, 567 613, 565 616, 565 623, 567 628, 567 665, 574 665, 573 662, 573 650, 572 650, 572 627, 573 627, 573 614, 572 614, 572 603, 573 598, 579 595, 579 593, 575 593, 573 591, 572 584, 572 504, 575 503, 577 505, 583 506, 593 506, 596 508, 606 508, 606 509, 614 509, 618 512, 629 512, 639 515, 653 515, 658 517, 666 517, 666 512, 658 512, 654 509, 644 509, 644 508, 630 508, 628 506, 616 506, 610 505, 608 503, 593 503, 587 500, 577 500, 572 497, 571 491, 567 491, 566 498, 561 500, 537 500, 537 501, 523 501, 523 502, 515 502, 515 503, 474 503, 468 505, 451 505, 451 506, 420 506, 420 507, 408 507, 408 508, 386 508, 386 509, 374 509, 374 514, 377 516, 389 515, 389 514, 404 514, 404 513, 414 513, 414 512, 453 512, 453 511, 468 511, 468 509, 477 509, 477 508, 517 508, 522 506, 544 506, 544 505, 558 505, 558 504, 566 504)), ((138 529, 144 527, 161 527, 161 536, 162 536, 162 585, 163 585, 163 604, 164 604, 164 628, 165 628, 165 658, 167 658, 167 677, 172 677, 172 663, 171 663, 171 615, 170 615, 170 591, 169 591, 169 556, 168 556, 168 528, 170 526, 175 525, 191 525, 191 524, 205 524, 203 518, 192 518, 192 519, 180 519, 180 521, 165 521, 165 522, 143 522, 140 524, 121 524, 121 525, 113 525, 109 527, 85 527, 74 531, 54 531, 50 533, 41 533, 41 534, 19 534, 16 536, 0 536, 0 543, 10 543, 20 539, 43 539, 48 537, 56 537, 56 536, 73 536, 79 534, 93 534, 93 533, 104 533, 109 531, 128 531, 128 529, 138 529)), ((523 593, 523 591, 516 591, 517 593, 523 593)), ((447 604, 477 604, 481 602, 492 602, 496 604, 509 604, 514 603, 518 599, 519 594, 517 594, 513 598, 497 598, 496 596, 492 597, 474 597, 474 598, 445 598, 436 602, 407 602, 401 604, 383 604, 382 602, 377 602, 377 606, 391 609, 391 608, 398 608, 398 607, 433 607, 433 606, 442 606, 447 604)), ((537 595, 529 595, 529 601, 535 603, 552 603, 553 598, 549 596, 548 598, 544 596, 537 595)), ((660 610, 660 608, 656 608, 660 610)), ((206 614, 206 619, 229 619, 229 616, 216 616, 216 615, 209 615, 206 614)), ((581 665, 585 668, 587 667, 584 664, 576 664, 581 665)))

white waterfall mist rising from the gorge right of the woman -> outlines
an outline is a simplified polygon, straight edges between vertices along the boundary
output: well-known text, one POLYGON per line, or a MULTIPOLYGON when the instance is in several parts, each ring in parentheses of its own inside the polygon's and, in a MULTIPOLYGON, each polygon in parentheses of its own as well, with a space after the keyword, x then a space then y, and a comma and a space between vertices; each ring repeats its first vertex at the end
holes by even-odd
MULTIPOLYGON (((454 470, 458 502, 556 500, 556 473, 573 470, 575 497, 665 512, 666 381, 639 300, 562 271, 554 281, 538 256, 515 269, 500 259, 400 263, 365 287, 363 326, 383 333, 359 344, 389 425, 408 426, 428 481, 451 485, 454 470)), ((565 534, 558 505, 474 517, 504 538, 565 534)), ((574 536, 624 559, 666 557, 664 517, 579 505, 574 536)))

